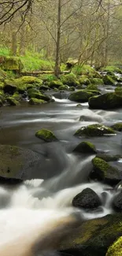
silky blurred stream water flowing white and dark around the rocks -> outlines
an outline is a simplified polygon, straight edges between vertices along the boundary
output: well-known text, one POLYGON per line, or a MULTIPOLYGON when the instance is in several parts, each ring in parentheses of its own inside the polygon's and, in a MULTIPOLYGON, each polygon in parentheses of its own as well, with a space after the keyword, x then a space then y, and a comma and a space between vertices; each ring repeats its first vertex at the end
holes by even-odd
MULTIPOLYGON (((23 177, 23 184, 0 187, 2 256, 31 256, 31 245, 38 239, 41 241, 43 236, 53 230, 57 234, 55 228, 60 224, 72 223, 77 216, 87 220, 113 213, 111 201, 116 192, 109 185, 88 181, 94 155, 86 157, 83 154, 72 154, 76 145, 84 140, 73 134, 78 128, 88 124, 110 125, 122 121, 121 109, 90 110, 87 103, 77 107, 76 102, 70 102, 67 98, 54 99, 55 102, 43 106, 28 106, 25 102, 23 106, 6 106, 1 111, 0 143, 27 147, 41 155, 34 173, 28 172, 23 177), (37 139, 35 132, 40 128, 53 131, 60 142, 44 143, 37 139), (72 198, 86 187, 91 187, 102 199, 102 206, 95 212, 72 207, 72 198), (103 192, 106 193, 105 200, 103 192), (20 250, 16 250, 16 247, 20 250)), ((100 151, 121 153, 120 132, 112 137, 91 138, 91 142, 100 151)), ((117 161, 116 165, 121 168, 122 161, 117 161)), ((50 248, 53 248, 52 244, 50 248)))

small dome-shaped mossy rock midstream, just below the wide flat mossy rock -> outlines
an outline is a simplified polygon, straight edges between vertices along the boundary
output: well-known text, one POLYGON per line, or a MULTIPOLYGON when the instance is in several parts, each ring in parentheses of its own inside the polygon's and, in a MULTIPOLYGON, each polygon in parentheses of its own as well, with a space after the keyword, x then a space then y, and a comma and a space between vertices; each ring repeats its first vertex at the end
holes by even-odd
POLYGON ((83 153, 83 154, 95 154, 96 153, 96 147, 93 143, 90 143, 88 141, 83 141, 82 143, 79 143, 78 146, 73 150, 74 152, 83 153))

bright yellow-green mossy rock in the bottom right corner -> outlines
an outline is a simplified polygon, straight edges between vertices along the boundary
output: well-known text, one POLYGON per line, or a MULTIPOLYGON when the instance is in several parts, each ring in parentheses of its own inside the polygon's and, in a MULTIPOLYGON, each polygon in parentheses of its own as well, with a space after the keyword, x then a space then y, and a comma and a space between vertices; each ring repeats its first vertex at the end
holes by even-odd
POLYGON ((109 247, 106 256, 122 256, 122 236, 109 247))

